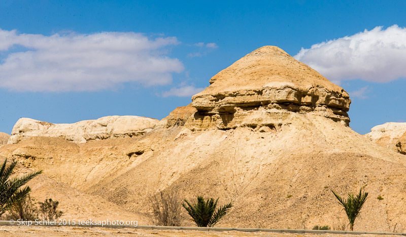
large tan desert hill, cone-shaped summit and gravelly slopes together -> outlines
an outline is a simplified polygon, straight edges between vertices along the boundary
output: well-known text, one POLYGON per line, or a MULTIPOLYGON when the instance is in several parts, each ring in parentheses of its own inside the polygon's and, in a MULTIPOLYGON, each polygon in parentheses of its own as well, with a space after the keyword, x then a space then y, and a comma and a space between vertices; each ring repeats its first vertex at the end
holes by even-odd
POLYGON ((355 230, 405 228, 406 156, 354 132, 350 103, 344 89, 265 46, 138 136, 79 141, 36 125, 44 122, 17 123, 0 156, 146 216, 150 195, 177 189, 232 201, 218 226, 339 229, 347 220, 330 189, 362 187, 369 197, 355 230))

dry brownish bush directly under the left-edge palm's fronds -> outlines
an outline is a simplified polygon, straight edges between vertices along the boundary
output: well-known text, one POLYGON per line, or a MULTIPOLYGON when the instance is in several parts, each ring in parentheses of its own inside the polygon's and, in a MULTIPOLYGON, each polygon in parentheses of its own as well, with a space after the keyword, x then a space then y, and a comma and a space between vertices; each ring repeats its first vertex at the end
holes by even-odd
POLYGON ((13 206, 6 215, 7 220, 33 221, 38 219, 39 210, 36 207, 35 199, 28 195, 21 202, 13 206))

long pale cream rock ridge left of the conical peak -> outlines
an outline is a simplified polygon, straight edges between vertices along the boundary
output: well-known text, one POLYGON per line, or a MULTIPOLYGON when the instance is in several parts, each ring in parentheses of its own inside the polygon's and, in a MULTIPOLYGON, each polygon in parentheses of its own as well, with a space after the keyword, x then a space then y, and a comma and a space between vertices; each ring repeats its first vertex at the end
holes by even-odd
POLYGON ((158 120, 140 116, 106 116, 74 124, 51 124, 21 118, 14 125, 8 144, 38 136, 61 138, 75 143, 141 136, 151 131, 158 122, 158 120))

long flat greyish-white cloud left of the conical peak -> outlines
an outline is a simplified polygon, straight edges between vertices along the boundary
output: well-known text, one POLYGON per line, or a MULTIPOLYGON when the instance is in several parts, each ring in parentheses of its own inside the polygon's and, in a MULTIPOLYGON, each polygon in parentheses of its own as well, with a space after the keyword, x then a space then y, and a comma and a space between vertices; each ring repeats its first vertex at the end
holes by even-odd
POLYGON ((172 83, 183 64, 166 56, 176 37, 134 32, 19 34, 0 29, 0 87, 16 91, 96 91, 126 82, 172 83), (23 51, 16 49, 24 48, 23 51), (16 52, 17 51, 17 52, 16 52))

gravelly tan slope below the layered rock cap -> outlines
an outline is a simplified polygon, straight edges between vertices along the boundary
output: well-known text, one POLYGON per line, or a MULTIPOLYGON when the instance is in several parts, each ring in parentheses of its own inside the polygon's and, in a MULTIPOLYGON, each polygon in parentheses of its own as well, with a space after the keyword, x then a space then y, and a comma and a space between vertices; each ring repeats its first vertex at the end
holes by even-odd
MULTIPOLYGON (((36 157, 19 156, 22 164, 61 181, 74 174, 81 191, 147 215, 148 196, 170 188, 182 198, 204 194, 220 197, 221 204, 233 201, 219 223, 227 227, 337 228, 345 214, 330 188, 345 194, 364 187, 370 198, 355 229, 387 231, 395 223, 401 228, 404 155, 323 116, 289 113, 290 124, 276 131, 193 132, 175 125, 144 137, 83 144, 33 137, 0 148, 0 155, 25 149, 36 157)), ((191 225, 184 217, 183 224, 191 225)))

